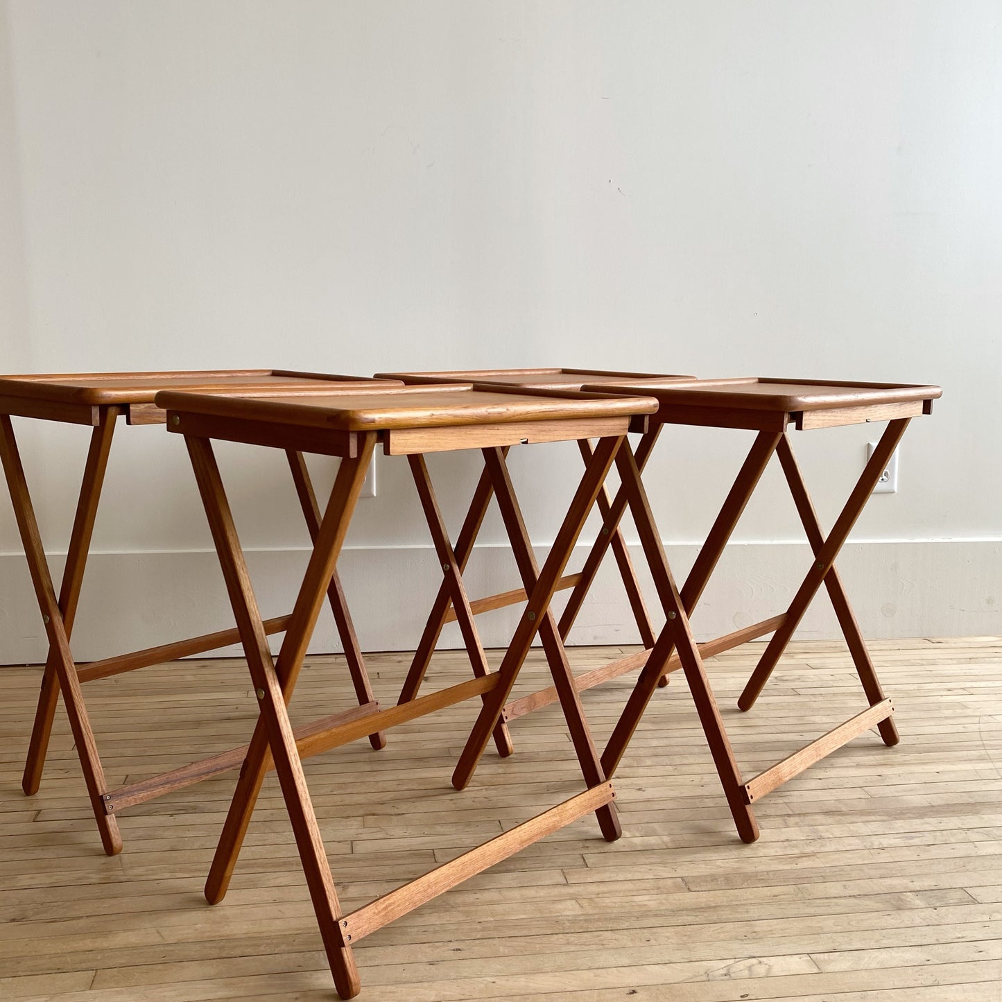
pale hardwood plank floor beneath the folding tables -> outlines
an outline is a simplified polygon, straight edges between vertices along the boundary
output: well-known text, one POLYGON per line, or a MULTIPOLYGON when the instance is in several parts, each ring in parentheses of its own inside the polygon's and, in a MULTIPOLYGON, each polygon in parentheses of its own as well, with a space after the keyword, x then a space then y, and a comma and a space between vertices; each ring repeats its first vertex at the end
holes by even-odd
MULTIPOLYGON (((576 648, 575 667, 621 648, 576 648)), ((746 777, 865 700, 841 644, 796 643, 749 714, 734 699, 761 644, 710 677, 746 777)), ((742 845, 685 682, 658 691, 616 778, 623 838, 588 816, 357 949, 362 1000, 743 999, 1002 1002, 1002 638, 872 645, 902 742, 868 731, 757 805, 742 845)), ((517 691, 548 681, 538 654, 517 691)), ((497 663, 495 652, 492 658, 497 663)), ((371 655, 395 701, 409 659, 371 655)), ((308 659, 306 720, 351 705, 342 659, 308 659)), ((428 685, 469 675, 439 655, 428 685)), ((601 744, 632 684, 591 689, 601 744)), ((60 709, 41 792, 20 778, 37 667, 0 668, 0 999, 334 999, 274 774, 229 895, 201 887, 234 774, 122 812, 109 859, 60 709)), ((429 689, 430 690, 430 689, 429 689)), ((244 741, 257 712, 238 661, 184 661, 90 683, 113 785, 244 741)), ((391 890, 581 789, 559 707, 512 724, 515 755, 449 785, 479 703, 311 760, 343 903, 391 890)))

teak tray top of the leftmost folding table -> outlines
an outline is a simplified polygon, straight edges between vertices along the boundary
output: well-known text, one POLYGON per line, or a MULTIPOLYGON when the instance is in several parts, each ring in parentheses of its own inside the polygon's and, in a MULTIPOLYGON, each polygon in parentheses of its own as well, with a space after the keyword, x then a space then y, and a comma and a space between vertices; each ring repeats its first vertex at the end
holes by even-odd
POLYGON ((329 376, 284 369, 230 369, 158 373, 67 373, 64 375, 3 376, 0 396, 92 406, 151 404, 161 390, 186 387, 234 393, 270 391, 300 392, 316 387, 318 381, 372 383, 363 376, 329 376))

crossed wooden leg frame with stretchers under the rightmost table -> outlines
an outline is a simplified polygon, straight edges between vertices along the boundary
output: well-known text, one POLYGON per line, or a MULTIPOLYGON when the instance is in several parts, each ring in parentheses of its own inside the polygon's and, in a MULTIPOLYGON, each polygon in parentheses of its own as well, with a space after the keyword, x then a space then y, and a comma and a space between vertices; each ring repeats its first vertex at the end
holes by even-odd
POLYGON ((898 742, 898 732, 891 719, 894 707, 891 700, 885 697, 877 678, 873 661, 867 651, 859 624, 846 598, 842 581, 835 567, 835 559, 890 457, 901 441, 907 425, 908 419, 889 423, 877 449, 836 521, 835 527, 827 538, 818 523, 814 506, 786 434, 760 432, 680 593, 675 588, 660 538, 654 526, 637 464, 627 449, 619 453, 617 464, 622 479, 621 490, 628 498, 632 509, 667 621, 661 635, 657 638, 654 649, 647 658, 602 755, 602 767, 607 777, 611 778, 615 773, 630 737, 653 695, 658 679, 678 667, 681 667, 685 673, 734 824, 744 842, 754 842, 759 835, 758 825, 752 812, 752 804, 786 783, 787 780, 799 775, 815 762, 830 755, 842 744, 874 725, 879 727, 886 744, 893 745, 898 742), (780 462, 790 485, 798 513, 815 554, 815 564, 786 613, 745 627, 725 637, 719 637, 704 644, 696 644, 692 639, 688 617, 698 602, 723 548, 774 452, 779 453, 780 462), (706 654, 718 653, 775 630, 773 639, 767 645, 753 677, 745 686, 741 701, 738 703, 742 709, 749 708, 789 644, 790 638, 811 600, 823 583, 828 588, 832 598, 870 708, 745 783, 741 780, 740 771, 730 748, 709 680, 706 677, 700 651, 706 654))

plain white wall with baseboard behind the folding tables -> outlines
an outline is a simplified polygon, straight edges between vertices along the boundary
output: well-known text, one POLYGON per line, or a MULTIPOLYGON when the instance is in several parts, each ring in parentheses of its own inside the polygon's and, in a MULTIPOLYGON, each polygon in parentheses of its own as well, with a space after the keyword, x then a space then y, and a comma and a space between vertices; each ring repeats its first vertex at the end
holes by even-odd
MULTIPOLYGON (((852 555, 859 611, 887 635, 1002 631, 997 2, 2 11, 0 370, 556 364, 938 382, 944 399, 903 444, 899 492, 857 528, 875 541, 852 555), (928 567, 921 620, 880 612, 906 545, 928 567)), ((94 540, 119 556, 95 575, 127 602, 92 637, 81 618, 92 653, 173 637, 203 607, 192 551, 210 544, 180 443, 119 436, 94 540)), ((872 437, 795 438, 827 523, 872 437)), ((84 439, 23 431, 53 551, 84 439)), ((648 483, 668 540, 701 538, 747 444, 665 436, 648 483)), ((281 462, 222 452, 248 548, 301 547, 281 462)), ((514 466, 566 497, 578 460, 548 447, 514 466)), ((433 471, 455 524, 475 459, 433 471)), ((360 593, 382 566, 372 547, 427 538, 406 464, 380 475, 350 540, 372 557, 358 560, 360 593)), ((551 499, 523 497, 540 543, 556 530, 551 499)), ((498 520, 484 538, 502 538, 498 520)), ((774 544, 802 536, 776 471, 738 538, 760 544, 748 573, 782 578, 781 600, 797 575, 774 544)), ((0 662, 41 656, 18 554, 4 502, 0 662)), ((503 560, 488 565, 485 586, 510 586, 503 560)), ((259 590, 270 608, 286 600, 259 590)), ((588 638, 621 637, 609 600, 588 638)), ((414 643, 410 627, 380 636, 414 643)))

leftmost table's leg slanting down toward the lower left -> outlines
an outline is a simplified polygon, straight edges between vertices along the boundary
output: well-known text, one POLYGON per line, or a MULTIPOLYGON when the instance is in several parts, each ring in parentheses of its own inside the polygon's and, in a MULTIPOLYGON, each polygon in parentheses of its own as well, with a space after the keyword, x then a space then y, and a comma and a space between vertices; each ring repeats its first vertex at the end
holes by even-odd
MULTIPOLYGON (((118 414, 118 408, 102 408, 101 423, 94 428, 90 435, 90 448, 87 450, 83 481, 80 484, 80 495, 77 500, 76 515, 73 519, 73 531, 70 534, 69 550, 66 553, 62 585, 59 588, 59 608, 62 611, 63 627, 66 630, 67 640, 73 632, 73 620, 76 618, 80 586, 83 582, 87 555, 90 552, 90 538, 93 534, 97 505, 101 497, 101 486, 104 483, 104 471, 111 449, 111 437, 114 434, 118 414)), ((21 788, 29 797, 38 793, 42 782, 42 770, 45 768, 45 755, 48 752, 56 703, 59 700, 59 678, 56 673, 58 658, 58 652, 50 648, 45 661, 45 671, 42 674, 42 688, 38 694, 38 706, 35 710, 35 722, 31 728, 31 741, 28 745, 28 758, 24 764, 24 776, 21 779, 21 788)))

